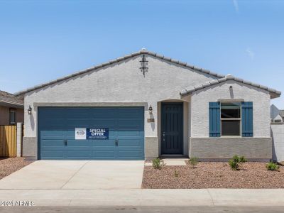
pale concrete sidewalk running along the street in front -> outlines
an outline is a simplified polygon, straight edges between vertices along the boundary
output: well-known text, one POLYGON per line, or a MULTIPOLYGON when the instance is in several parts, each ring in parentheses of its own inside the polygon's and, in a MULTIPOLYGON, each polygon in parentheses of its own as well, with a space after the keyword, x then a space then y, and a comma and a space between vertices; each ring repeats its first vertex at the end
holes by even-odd
POLYGON ((0 190, 35 206, 284 206, 284 190, 0 190))

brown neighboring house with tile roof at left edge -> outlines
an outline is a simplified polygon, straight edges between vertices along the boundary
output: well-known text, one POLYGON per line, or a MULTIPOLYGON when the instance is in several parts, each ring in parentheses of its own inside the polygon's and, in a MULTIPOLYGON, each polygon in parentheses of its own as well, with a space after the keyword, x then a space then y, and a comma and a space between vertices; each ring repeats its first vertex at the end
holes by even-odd
POLYGON ((0 125, 23 122, 23 97, 0 90, 0 125))

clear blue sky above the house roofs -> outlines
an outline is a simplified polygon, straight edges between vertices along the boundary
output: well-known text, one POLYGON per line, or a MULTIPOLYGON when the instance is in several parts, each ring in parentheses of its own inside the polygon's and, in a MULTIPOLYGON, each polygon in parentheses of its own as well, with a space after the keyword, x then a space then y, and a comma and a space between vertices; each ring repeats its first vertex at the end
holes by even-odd
POLYGON ((284 92, 283 38, 284 1, 0 0, 0 89, 147 48, 284 92))

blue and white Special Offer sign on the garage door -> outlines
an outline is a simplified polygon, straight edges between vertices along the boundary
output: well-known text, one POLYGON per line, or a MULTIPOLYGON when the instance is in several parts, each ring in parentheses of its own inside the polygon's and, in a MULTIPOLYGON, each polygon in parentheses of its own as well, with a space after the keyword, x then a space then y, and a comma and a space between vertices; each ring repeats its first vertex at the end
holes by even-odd
POLYGON ((75 128, 75 140, 108 140, 109 128, 75 128))

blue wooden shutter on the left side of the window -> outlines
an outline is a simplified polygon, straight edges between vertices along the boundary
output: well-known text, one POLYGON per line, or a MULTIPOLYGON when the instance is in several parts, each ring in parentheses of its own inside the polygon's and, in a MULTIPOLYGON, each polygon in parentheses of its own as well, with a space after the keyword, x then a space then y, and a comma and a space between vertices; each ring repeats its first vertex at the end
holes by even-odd
POLYGON ((209 136, 220 136, 220 102, 209 102, 209 136))

